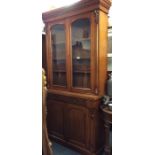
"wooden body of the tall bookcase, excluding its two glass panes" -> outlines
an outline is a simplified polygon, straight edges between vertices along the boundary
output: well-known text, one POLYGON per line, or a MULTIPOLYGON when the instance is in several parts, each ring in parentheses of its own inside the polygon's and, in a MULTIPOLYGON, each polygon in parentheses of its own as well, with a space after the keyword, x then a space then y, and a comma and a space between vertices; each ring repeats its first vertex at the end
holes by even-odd
MULTIPOLYGON (((107 41, 109 0, 82 0, 42 14, 46 30, 47 125, 50 139, 86 155, 100 154, 104 148, 103 123, 99 105, 107 80, 107 41), (73 87, 71 25, 77 19, 90 19, 90 88, 73 87), (65 25, 66 88, 54 86, 51 26, 65 25)), ((77 32, 78 33, 78 32, 77 32)), ((87 70, 86 70, 87 71, 87 70)))

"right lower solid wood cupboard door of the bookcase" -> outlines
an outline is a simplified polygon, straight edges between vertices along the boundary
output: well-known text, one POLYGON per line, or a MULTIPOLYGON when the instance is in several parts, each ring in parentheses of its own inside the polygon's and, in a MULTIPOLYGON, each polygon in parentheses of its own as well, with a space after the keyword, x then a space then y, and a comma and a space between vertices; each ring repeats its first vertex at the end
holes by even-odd
POLYGON ((88 113, 84 107, 68 104, 65 107, 65 138, 73 145, 88 147, 88 113))

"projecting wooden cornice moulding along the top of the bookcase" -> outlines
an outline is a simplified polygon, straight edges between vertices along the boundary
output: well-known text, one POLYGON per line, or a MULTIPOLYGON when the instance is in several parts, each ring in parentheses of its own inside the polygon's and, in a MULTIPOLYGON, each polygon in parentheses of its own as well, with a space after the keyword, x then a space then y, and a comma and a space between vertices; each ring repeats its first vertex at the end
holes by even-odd
POLYGON ((111 0, 81 0, 67 7, 44 12, 42 14, 42 19, 44 23, 52 22, 96 9, 102 10, 104 13, 108 14, 110 6, 111 0))

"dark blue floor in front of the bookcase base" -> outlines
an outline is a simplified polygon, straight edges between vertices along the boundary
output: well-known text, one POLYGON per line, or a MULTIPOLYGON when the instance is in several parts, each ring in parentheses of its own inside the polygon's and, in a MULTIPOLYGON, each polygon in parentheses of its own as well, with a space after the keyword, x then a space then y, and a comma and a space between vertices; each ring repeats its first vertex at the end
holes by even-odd
MULTIPOLYGON (((82 155, 81 153, 78 153, 55 142, 52 142, 52 146, 54 155, 82 155)), ((104 153, 102 155, 104 155, 104 153)))

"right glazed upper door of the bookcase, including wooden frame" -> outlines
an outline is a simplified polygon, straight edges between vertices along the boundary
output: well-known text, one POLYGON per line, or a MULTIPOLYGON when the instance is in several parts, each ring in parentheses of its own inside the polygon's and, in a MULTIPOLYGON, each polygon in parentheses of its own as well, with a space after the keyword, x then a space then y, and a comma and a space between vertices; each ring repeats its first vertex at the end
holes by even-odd
POLYGON ((71 26, 72 89, 92 91, 91 16, 73 19, 71 26))

